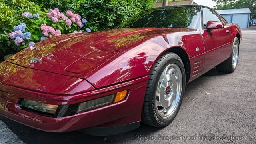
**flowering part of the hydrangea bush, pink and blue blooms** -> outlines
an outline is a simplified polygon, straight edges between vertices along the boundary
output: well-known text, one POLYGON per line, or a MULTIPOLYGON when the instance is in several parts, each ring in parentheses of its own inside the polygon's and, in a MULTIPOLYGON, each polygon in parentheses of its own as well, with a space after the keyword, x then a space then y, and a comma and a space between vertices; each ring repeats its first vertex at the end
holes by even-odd
MULTIPOLYGON (((60 36, 66 33, 82 32, 86 19, 81 20, 79 14, 74 14, 68 10, 66 15, 60 12, 58 8, 45 10, 44 13, 31 14, 30 12, 24 12, 22 17, 24 21, 30 24, 30 30, 26 31, 26 24, 20 23, 18 26, 14 26, 14 32, 8 34, 10 39, 14 40, 20 49, 27 46, 32 46, 40 40, 45 40, 53 36, 60 36), (35 20, 38 19, 38 20, 35 20), (49 25, 49 26, 48 26, 49 25), (40 28, 39 28, 40 27, 40 28), (36 30, 35 30, 36 29, 36 30), (40 38, 40 39, 39 39, 40 38)), ((89 28, 85 28, 86 32, 90 32, 89 28)))

